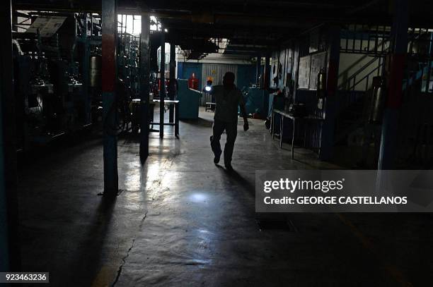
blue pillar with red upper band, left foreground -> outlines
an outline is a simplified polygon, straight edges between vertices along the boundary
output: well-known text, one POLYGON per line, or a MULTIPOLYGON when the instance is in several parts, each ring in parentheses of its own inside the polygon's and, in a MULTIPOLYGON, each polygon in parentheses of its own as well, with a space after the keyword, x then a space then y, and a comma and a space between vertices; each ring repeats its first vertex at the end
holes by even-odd
POLYGON ((116 195, 117 178, 117 129, 116 129, 116 35, 117 1, 102 3, 102 90, 103 90, 103 134, 104 134, 104 195, 116 195))

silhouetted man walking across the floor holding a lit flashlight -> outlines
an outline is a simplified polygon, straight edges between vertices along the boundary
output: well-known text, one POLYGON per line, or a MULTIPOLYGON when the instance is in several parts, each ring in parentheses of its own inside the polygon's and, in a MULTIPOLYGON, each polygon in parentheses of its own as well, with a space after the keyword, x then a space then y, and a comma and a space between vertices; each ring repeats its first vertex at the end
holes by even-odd
POLYGON ((213 87, 211 93, 215 97, 215 115, 214 126, 212 127, 212 136, 210 137, 212 152, 214 152, 214 164, 219 163, 221 157, 221 145, 219 140, 226 130, 227 140, 224 147, 224 166, 227 171, 232 171, 231 157, 233 147, 238 134, 238 106, 241 107, 243 116, 243 130, 248 130, 248 118, 243 102, 243 94, 236 85, 234 85, 235 75, 227 72, 223 78, 223 85, 213 87))

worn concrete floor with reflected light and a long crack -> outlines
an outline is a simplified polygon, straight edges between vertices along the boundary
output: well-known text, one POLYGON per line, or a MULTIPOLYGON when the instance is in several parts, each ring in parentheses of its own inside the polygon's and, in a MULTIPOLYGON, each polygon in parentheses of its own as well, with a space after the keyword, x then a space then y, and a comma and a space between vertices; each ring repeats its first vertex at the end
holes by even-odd
POLYGON ((430 214, 256 214, 256 169, 339 166, 304 149, 291 160, 250 120, 228 174, 212 162, 212 116, 182 122, 179 140, 152 133, 144 165, 121 138, 113 202, 98 196, 99 139, 21 166, 23 269, 50 271, 50 286, 433 286, 430 214))

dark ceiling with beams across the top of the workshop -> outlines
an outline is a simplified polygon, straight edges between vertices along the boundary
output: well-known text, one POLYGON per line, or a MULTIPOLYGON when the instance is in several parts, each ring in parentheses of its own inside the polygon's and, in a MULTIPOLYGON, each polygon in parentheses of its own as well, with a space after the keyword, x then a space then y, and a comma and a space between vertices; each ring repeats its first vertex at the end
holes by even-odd
MULTIPOLYGON (((14 8, 51 11, 100 11, 101 2, 18 0, 14 8)), ((432 1, 409 1, 410 20, 431 27, 432 1)), ((251 53, 277 45, 321 23, 391 25, 388 0, 118 0, 118 13, 149 11, 168 29, 168 41, 187 44, 210 37, 228 38, 236 52, 251 53), (237 46, 236 46, 237 45, 237 46)))

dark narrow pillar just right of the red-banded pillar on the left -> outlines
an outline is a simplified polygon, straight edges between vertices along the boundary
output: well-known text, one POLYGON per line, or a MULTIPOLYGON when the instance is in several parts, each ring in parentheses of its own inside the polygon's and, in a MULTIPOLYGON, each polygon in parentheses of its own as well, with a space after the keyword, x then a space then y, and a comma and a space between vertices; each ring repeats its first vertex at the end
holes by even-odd
POLYGON ((149 156, 149 74, 150 74, 150 16, 142 13, 142 35, 140 36, 140 160, 149 156))

